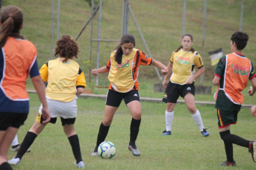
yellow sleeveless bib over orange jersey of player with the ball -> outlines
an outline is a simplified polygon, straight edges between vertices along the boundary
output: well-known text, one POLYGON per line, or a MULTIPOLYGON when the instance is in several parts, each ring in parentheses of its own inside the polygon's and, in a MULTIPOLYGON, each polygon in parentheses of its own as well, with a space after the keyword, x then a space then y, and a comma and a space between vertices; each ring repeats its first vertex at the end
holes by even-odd
POLYGON ((134 48, 128 56, 122 56, 122 63, 119 65, 115 61, 116 50, 110 55, 110 71, 108 74, 108 80, 110 81, 112 88, 120 93, 126 93, 134 88, 134 82, 137 79, 133 78, 133 61, 137 49, 134 48))

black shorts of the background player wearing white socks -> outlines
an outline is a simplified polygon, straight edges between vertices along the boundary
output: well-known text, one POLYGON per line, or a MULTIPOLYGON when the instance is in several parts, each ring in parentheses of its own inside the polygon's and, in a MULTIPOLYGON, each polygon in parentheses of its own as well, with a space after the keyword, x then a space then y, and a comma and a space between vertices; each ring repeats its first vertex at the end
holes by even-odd
POLYGON ((176 103, 178 97, 185 97, 188 93, 195 96, 195 86, 194 82, 191 85, 178 85, 172 82, 169 82, 166 87, 166 92, 163 95, 163 102, 172 102, 176 103))

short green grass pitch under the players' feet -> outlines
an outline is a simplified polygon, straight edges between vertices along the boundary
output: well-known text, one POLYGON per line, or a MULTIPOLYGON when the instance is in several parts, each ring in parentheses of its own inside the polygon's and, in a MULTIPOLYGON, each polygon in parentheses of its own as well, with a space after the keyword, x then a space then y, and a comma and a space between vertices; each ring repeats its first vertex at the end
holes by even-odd
MULTIPOLYGON (((30 94, 31 109, 25 125, 19 129, 19 143, 31 128, 40 105, 36 94, 30 94)), ((175 107, 175 119, 171 136, 161 136, 165 128, 164 103, 142 102, 143 117, 137 146, 141 156, 134 157, 128 151, 131 115, 122 102, 107 139, 116 146, 116 156, 111 160, 90 157, 96 145, 99 125, 104 114, 104 99, 79 98, 78 117, 75 128, 81 144, 81 152, 86 169, 227 169, 218 166, 225 160, 225 151, 216 122, 216 110, 213 106, 197 105, 202 114, 209 137, 203 137, 196 123, 183 104, 175 107)), ((231 126, 231 133, 247 140, 256 140, 256 119, 249 109, 240 111, 237 125, 231 126)), ((9 158, 15 156, 9 153, 9 158)), ((256 164, 248 149, 234 145, 235 169, 255 169, 256 164)), ((61 128, 60 120, 56 125, 49 124, 31 146, 31 153, 25 154, 16 170, 27 169, 76 169, 69 141, 61 128)))

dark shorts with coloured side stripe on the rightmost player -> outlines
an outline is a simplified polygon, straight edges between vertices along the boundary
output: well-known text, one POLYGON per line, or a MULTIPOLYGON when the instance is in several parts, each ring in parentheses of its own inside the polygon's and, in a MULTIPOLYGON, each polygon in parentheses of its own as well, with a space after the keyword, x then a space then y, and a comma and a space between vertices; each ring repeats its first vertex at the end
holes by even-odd
POLYGON ((217 109, 219 128, 225 128, 231 124, 237 124, 237 114, 239 111, 223 111, 217 109))

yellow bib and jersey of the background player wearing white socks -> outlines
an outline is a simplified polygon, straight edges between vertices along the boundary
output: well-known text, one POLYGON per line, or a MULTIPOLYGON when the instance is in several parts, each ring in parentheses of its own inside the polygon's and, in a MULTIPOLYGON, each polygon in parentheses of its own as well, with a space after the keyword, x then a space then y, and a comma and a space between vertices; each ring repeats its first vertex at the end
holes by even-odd
POLYGON ((196 51, 178 50, 173 51, 170 62, 172 62, 172 76, 170 81, 175 84, 184 85, 187 80, 195 73, 197 68, 204 67, 202 57, 196 51))

